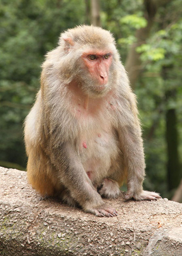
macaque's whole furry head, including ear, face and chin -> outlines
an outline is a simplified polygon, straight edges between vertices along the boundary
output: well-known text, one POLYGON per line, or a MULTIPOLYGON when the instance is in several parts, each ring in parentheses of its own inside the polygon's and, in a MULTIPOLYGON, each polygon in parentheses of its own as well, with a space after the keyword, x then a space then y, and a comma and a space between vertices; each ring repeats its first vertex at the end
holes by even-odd
POLYGON ((95 26, 78 26, 62 33, 61 76, 76 80, 91 97, 105 95, 116 85, 119 54, 109 31, 95 26))

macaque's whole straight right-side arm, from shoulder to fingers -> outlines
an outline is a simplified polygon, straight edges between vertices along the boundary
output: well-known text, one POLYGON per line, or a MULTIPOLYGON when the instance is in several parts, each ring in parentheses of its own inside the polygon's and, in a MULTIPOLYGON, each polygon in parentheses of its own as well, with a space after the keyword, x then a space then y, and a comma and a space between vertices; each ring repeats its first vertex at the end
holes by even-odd
POLYGON ((144 191, 142 183, 145 175, 144 149, 140 121, 135 97, 129 91, 129 98, 122 98, 117 111, 118 135, 125 168, 127 169, 127 194, 125 199, 156 200, 158 193, 144 191))

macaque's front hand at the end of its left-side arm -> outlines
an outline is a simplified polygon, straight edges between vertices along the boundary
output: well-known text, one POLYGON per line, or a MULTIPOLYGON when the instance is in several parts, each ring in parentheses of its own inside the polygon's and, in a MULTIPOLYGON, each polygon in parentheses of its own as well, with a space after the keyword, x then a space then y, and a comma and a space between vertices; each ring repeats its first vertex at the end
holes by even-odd
POLYGON ((87 209, 86 212, 93 213, 97 217, 114 217, 118 215, 117 211, 107 204, 102 204, 96 208, 87 209))

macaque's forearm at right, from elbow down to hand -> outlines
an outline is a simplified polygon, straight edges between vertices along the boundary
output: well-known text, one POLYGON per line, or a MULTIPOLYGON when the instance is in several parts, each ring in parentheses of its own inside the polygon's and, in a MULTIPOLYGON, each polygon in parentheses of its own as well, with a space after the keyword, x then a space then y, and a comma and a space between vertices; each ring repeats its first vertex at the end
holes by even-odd
POLYGON ((159 193, 144 191, 144 151, 140 126, 130 124, 119 132, 121 150, 123 152, 125 167, 127 168, 127 194, 125 199, 133 197, 135 200, 157 200, 159 193))

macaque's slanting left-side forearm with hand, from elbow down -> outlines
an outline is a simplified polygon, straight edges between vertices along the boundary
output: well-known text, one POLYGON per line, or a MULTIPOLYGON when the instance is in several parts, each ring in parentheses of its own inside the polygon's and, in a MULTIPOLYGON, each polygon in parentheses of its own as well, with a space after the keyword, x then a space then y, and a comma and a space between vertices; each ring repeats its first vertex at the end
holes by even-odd
POLYGON ((71 143, 52 148, 50 157, 58 170, 59 181, 83 210, 99 217, 117 216, 116 210, 106 205, 93 187, 71 143))

